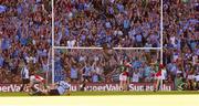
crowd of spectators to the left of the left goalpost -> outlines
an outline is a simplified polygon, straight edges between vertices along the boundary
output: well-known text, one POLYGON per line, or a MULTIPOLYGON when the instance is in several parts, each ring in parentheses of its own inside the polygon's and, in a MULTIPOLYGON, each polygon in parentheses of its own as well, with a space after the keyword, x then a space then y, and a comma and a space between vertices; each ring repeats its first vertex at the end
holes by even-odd
POLYGON ((21 64, 48 68, 51 47, 50 0, 0 0, 0 83, 21 83, 21 64))

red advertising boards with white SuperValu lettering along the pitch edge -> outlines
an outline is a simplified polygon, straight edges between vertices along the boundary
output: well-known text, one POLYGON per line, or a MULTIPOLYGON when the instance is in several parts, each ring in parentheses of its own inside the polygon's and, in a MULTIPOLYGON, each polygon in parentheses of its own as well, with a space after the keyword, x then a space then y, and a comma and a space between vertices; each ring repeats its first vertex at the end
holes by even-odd
MULTIPOLYGON (((80 84, 71 84, 71 91, 80 89, 80 84)), ((21 84, 0 84, 0 92, 19 92, 21 84)), ((129 91, 144 92, 154 91, 153 83, 130 83, 129 91)), ((172 84, 164 84, 163 91, 172 91, 172 84)), ((90 83, 84 91, 121 91, 119 84, 116 83, 90 83)))

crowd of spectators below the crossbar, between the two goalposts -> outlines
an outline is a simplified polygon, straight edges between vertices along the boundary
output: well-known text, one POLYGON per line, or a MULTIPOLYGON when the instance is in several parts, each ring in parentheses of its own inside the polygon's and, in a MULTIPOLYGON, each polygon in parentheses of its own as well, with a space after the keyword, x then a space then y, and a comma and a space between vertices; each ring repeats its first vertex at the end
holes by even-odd
POLYGON ((93 83, 118 82, 119 74, 126 70, 130 82, 151 82, 155 73, 151 63, 158 60, 157 51, 56 50, 55 80, 64 76, 71 77, 73 83, 80 83, 85 76, 93 83))

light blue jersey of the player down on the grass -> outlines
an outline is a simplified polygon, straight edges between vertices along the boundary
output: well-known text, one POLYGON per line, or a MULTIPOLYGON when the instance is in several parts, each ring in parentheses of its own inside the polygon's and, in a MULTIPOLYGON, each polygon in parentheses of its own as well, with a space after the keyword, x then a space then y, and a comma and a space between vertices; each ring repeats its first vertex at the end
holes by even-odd
POLYGON ((71 85, 64 81, 60 81, 57 82, 57 84, 59 84, 57 91, 60 95, 63 95, 71 87, 71 85))

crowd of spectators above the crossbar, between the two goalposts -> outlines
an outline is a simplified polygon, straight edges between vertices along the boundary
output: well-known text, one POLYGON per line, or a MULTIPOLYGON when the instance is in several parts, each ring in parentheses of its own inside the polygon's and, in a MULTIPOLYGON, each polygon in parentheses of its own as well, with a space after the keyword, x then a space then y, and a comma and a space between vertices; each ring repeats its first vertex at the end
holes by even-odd
POLYGON ((160 46, 160 0, 55 0, 56 46, 160 46))

